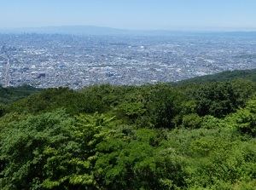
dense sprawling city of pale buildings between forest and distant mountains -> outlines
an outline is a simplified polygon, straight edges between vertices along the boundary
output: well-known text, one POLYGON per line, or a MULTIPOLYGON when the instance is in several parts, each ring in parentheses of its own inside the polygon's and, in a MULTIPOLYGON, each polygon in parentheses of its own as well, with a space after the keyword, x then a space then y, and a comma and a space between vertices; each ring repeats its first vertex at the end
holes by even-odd
POLYGON ((92 83, 140 85, 253 69, 255 36, 253 32, 0 34, 0 78, 2 85, 8 79, 12 86, 80 89, 92 83))

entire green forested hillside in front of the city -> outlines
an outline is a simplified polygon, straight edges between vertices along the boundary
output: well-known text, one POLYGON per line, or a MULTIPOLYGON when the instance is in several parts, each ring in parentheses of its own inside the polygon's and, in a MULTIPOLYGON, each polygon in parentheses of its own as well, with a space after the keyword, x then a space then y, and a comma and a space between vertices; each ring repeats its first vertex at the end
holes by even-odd
POLYGON ((0 189, 256 189, 248 73, 79 90, 0 87, 0 189))

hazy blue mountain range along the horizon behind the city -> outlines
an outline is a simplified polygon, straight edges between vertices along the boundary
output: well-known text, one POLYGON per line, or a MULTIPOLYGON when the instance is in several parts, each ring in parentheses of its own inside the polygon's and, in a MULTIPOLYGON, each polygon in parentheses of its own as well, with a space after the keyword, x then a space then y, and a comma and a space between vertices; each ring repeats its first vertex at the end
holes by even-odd
MULTIPOLYGON (((195 31, 174 31, 174 30, 128 30, 117 29, 101 26, 44 26, 44 27, 16 27, 16 28, 0 28, 0 33, 61 33, 61 34, 81 34, 81 35, 177 35, 202 33, 195 31)), ((256 36, 256 32, 204 32, 211 34, 226 33, 226 34, 244 34, 250 33, 256 36)))

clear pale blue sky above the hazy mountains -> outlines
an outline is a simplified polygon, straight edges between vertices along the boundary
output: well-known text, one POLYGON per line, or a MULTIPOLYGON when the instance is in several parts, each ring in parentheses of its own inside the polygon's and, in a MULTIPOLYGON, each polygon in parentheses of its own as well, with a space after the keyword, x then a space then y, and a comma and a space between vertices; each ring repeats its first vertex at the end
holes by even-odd
POLYGON ((0 28, 256 31, 256 0, 0 0, 0 28))

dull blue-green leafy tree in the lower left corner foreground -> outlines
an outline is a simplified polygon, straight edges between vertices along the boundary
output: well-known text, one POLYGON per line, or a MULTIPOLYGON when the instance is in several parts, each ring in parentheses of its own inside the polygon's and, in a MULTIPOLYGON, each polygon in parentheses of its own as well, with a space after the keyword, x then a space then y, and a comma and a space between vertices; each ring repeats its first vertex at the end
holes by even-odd
POLYGON ((59 110, 13 122, 1 133, 1 189, 40 189, 44 181, 44 148, 57 148, 68 139, 73 119, 59 110))

